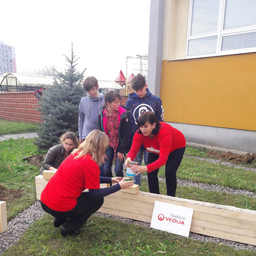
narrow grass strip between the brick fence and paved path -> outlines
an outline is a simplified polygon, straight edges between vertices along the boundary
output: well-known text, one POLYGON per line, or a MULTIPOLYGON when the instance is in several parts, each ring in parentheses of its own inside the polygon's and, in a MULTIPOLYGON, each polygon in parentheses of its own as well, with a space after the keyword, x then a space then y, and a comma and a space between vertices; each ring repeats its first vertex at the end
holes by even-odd
POLYGON ((38 123, 23 123, 0 119, 0 136, 18 133, 33 133, 38 129, 38 123))

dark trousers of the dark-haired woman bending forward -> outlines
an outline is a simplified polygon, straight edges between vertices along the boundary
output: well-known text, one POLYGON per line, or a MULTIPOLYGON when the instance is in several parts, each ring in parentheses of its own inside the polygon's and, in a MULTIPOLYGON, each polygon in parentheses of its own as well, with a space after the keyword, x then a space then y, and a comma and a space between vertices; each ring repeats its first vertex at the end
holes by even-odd
MULTIPOLYGON (((165 164, 165 181, 167 188, 167 196, 175 196, 176 188, 177 188, 177 178, 176 173, 181 164, 185 148, 178 148, 169 154, 167 162, 165 164)), ((153 153, 148 154, 148 165, 158 160, 159 156, 153 153)), ((156 169, 150 173, 148 173, 148 188, 150 193, 160 194, 159 184, 158 184, 158 171, 156 169)))

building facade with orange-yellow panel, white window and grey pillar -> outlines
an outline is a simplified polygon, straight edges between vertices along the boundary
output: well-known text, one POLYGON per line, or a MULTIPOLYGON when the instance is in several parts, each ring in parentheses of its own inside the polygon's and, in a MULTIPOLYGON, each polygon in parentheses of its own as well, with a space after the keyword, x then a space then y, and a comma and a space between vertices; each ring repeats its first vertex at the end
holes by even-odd
POLYGON ((256 1, 152 0, 148 86, 188 142, 256 152, 256 1))

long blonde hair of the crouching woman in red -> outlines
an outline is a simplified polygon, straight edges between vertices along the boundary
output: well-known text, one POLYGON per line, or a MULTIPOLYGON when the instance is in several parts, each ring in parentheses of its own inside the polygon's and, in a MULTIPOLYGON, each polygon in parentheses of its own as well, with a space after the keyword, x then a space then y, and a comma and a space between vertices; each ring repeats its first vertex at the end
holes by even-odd
POLYGON ((99 130, 93 130, 87 135, 85 141, 72 152, 72 154, 74 155, 76 152, 79 152, 78 156, 75 156, 74 159, 90 154, 93 160, 95 160, 98 165, 101 165, 102 156, 104 156, 108 144, 110 144, 110 139, 106 133, 99 130))

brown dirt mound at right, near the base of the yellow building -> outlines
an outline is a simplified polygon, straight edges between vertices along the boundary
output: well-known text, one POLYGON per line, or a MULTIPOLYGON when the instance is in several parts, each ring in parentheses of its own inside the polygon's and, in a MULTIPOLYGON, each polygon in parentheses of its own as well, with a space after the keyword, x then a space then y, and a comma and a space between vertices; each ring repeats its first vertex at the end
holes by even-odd
MULTIPOLYGON (((217 152, 216 150, 210 150, 206 156, 210 158, 217 158, 219 160, 230 161, 230 163, 238 164, 238 163, 252 163, 256 162, 256 154, 247 153, 245 155, 237 155, 232 152, 217 152)), ((256 167, 256 165, 255 165, 256 167)))

